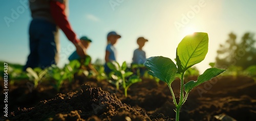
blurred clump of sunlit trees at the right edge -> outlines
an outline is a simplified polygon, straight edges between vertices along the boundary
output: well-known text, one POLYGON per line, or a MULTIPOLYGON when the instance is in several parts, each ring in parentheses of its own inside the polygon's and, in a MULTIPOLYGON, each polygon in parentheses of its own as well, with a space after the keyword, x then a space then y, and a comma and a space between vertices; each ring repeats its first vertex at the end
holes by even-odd
POLYGON ((256 65, 256 48, 254 46, 254 34, 245 33, 240 42, 237 36, 229 34, 229 39, 225 44, 220 44, 217 50, 216 67, 228 68, 232 66, 246 69, 251 65, 256 65))

